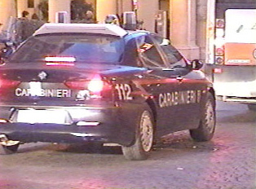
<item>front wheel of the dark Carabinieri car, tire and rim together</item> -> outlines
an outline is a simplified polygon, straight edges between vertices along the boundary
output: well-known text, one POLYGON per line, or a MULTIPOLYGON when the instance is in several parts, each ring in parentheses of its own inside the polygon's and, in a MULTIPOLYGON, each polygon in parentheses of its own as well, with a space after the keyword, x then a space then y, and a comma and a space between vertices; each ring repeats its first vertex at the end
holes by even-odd
POLYGON ((195 130, 189 130, 191 137, 197 142, 209 141, 214 136, 216 126, 216 112, 214 97, 207 94, 204 112, 201 117, 199 127, 195 130))

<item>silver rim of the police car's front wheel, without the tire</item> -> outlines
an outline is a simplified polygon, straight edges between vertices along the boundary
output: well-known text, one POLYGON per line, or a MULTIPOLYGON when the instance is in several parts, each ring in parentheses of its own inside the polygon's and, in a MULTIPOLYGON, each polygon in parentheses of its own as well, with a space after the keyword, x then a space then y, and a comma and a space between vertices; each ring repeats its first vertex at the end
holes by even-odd
POLYGON ((214 132, 214 125, 215 125, 215 114, 214 114, 214 107, 212 103, 209 101, 206 104, 206 112, 205 112, 205 127, 209 133, 214 132))

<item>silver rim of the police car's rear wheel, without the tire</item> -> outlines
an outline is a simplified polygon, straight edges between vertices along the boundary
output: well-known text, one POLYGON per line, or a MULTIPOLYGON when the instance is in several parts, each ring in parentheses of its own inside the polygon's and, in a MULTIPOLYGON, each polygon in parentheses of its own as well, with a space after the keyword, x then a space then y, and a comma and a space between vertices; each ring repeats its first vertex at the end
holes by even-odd
POLYGON ((139 131, 143 150, 144 152, 149 152, 153 141, 153 125, 148 111, 143 112, 143 115, 141 116, 139 131))

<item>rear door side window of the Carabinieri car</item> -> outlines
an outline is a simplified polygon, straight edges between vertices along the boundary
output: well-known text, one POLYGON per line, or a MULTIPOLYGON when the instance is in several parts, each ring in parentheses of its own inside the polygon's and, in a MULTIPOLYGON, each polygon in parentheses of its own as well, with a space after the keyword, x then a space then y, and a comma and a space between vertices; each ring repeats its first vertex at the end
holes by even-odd
POLYGON ((143 67, 166 67, 156 44, 148 35, 137 37, 137 44, 143 67))

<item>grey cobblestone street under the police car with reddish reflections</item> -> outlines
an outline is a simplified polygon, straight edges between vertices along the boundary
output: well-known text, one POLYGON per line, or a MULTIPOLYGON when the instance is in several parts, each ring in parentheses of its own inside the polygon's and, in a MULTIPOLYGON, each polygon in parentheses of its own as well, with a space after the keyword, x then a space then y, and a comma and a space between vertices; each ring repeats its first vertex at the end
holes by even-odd
POLYGON ((120 147, 24 144, 0 156, 0 189, 254 189, 255 123, 244 104, 218 102, 211 142, 170 134, 144 161, 125 160, 120 147))

